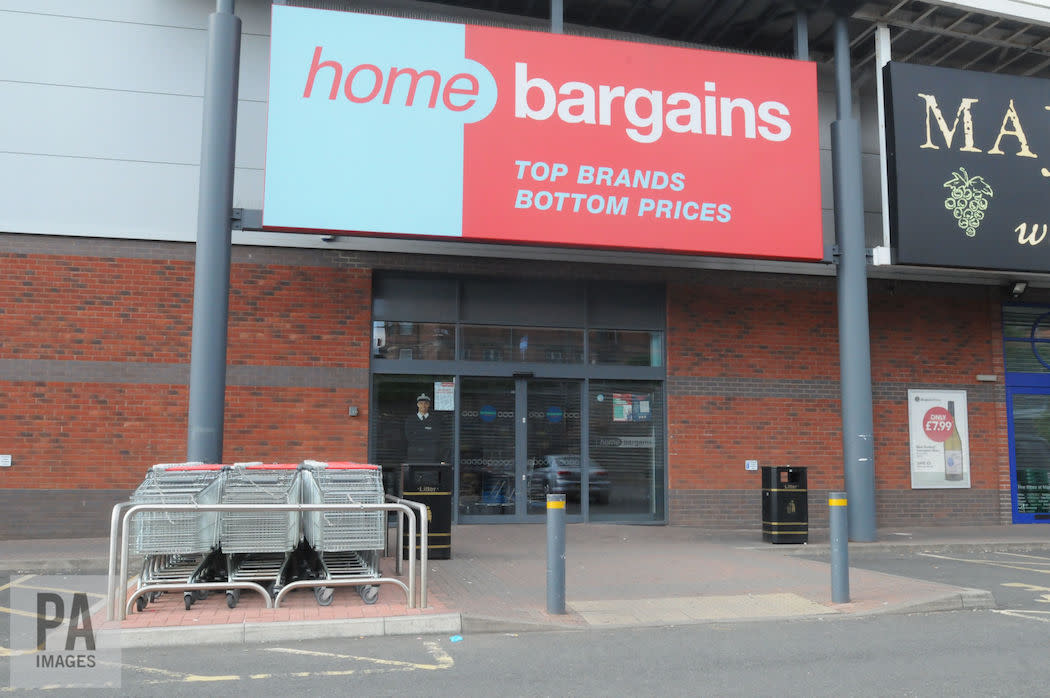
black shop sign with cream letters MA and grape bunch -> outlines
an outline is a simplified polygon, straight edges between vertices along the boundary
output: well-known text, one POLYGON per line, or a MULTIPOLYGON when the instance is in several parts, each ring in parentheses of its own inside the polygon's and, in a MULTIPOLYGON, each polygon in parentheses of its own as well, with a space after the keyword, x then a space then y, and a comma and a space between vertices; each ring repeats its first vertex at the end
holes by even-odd
POLYGON ((1050 271, 1050 81, 885 70, 897 260, 1050 271))

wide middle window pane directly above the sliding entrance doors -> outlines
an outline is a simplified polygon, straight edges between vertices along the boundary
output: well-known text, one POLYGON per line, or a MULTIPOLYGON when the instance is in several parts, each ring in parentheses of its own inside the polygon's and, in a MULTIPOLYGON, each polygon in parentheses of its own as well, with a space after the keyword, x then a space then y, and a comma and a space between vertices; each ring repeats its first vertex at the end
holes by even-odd
POLYGON ((582 363, 582 330, 463 325, 465 361, 582 363))

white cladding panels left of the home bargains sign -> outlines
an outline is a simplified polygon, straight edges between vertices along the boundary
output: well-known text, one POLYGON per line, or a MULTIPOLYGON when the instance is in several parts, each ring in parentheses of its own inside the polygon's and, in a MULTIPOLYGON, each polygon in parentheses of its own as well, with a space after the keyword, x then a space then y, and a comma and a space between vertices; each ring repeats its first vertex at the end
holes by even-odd
MULTIPOLYGON (((0 230, 195 238, 214 7, 0 0, 0 230)), ((237 4, 235 207, 262 202, 269 37, 257 33, 269 31, 269 7, 237 4)))

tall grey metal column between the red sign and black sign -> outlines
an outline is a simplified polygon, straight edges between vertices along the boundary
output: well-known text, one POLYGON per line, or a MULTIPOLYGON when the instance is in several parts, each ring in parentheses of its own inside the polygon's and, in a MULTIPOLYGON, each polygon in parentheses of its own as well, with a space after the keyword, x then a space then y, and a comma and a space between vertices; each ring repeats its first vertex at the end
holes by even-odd
POLYGON ((860 126, 853 118, 846 10, 835 18, 835 97, 832 124, 835 228, 838 240, 839 364, 842 453, 852 541, 875 541, 875 445, 872 347, 867 318, 867 261, 860 126))

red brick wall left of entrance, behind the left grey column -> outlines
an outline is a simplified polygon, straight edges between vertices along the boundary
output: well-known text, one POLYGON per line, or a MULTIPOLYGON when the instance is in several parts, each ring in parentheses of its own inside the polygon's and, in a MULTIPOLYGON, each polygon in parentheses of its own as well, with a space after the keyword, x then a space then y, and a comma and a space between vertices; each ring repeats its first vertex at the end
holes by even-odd
MULTIPOLYGON (((0 488, 130 489, 150 464, 185 458, 193 265, 184 248, 175 260, 143 258, 146 244, 129 257, 0 253, 0 359, 27 372, 0 380, 14 462, 0 488)), ((224 461, 366 459, 371 278, 235 257, 224 461), (350 379, 296 385, 303 367, 350 379), (235 369, 248 385, 231 380, 235 369)))

